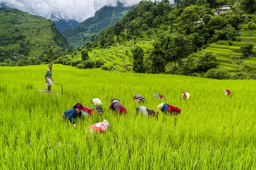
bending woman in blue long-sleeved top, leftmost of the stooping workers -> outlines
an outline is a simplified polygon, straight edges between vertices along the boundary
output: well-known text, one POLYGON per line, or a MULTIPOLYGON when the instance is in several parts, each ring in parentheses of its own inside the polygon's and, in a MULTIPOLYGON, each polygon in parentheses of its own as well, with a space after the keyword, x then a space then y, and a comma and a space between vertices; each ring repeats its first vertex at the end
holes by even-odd
POLYGON ((73 120, 74 118, 79 117, 80 119, 82 118, 84 121, 84 117, 82 116, 82 112, 81 112, 82 108, 83 108, 83 105, 81 105, 80 103, 77 103, 76 105, 73 106, 72 109, 69 109, 62 113, 63 119, 65 120, 68 118, 76 128, 76 122, 73 120))

